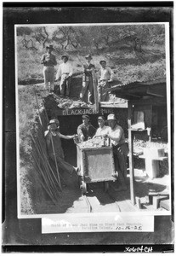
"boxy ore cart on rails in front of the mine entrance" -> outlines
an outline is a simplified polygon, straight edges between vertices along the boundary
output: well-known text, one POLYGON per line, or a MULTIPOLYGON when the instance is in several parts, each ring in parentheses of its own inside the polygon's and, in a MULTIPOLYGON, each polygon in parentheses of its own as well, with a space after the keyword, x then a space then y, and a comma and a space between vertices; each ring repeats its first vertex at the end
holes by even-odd
POLYGON ((109 188, 109 181, 116 181, 114 157, 112 148, 81 148, 77 144, 77 167, 82 174, 80 188, 82 194, 87 192, 87 183, 105 182, 105 190, 109 188))

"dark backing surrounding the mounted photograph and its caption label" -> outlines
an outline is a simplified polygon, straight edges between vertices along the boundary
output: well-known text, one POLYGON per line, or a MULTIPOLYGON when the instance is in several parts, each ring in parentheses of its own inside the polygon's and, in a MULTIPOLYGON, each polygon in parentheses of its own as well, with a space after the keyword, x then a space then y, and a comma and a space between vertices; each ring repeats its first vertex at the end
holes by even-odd
MULTIPOLYGON (((3 3, 3 252, 123 252, 138 245, 173 250, 173 216, 156 216, 154 233, 100 235, 42 235, 41 219, 17 218, 14 25, 108 22, 169 22, 173 55, 173 2, 3 3)), ((173 124, 173 59, 171 78, 173 124)))

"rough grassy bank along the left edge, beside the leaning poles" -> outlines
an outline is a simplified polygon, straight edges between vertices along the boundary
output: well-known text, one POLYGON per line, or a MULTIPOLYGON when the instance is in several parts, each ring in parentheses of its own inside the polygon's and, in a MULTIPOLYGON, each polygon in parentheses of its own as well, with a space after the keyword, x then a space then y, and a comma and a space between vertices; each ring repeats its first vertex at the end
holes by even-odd
MULTIPOLYGON (((20 132, 20 197, 21 214, 33 214, 31 195, 34 193, 35 165, 31 158, 33 151, 30 129, 37 125, 37 102, 31 86, 19 88, 19 132, 20 132), (31 189, 33 188, 33 189, 31 189)), ((39 104, 41 100, 39 99, 39 104)))

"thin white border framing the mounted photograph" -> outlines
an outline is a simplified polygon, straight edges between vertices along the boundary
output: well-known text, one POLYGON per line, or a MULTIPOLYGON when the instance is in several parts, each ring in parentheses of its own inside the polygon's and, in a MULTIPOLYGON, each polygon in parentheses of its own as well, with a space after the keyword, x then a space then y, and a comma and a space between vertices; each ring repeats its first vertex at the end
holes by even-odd
MULTIPOLYGON (((99 216, 99 214, 105 216, 112 216, 114 212, 97 212, 97 213, 62 213, 62 214, 31 214, 23 215, 20 212, 20 137, 19 137, 19 99, 18 99, 18 61, 17 61, 17 27, 28 26, 129 26, 129 25, 165 25, 165 47, 166 47, 166 76, 167 76, 167 131, 171 131, 171 109, 170 109, 170 38, 169 38, 169 23, 168 22, 138 22, 138 23, 79 23, 79 24, 18 24, 14 25, 14 42, 15 42, 15 93, 16 93, 16 151, 17 151, 17 203, 18 203, 18 218, 67 218, 72 215, 72 217, 87 217, 91 221, 91 217, 99 216), (169 40, 168 40, 169 39, 169 40)), ((169 195, 171 195, 171 134, 168 132, 168 169, 170 175, 170 186, 169 186, 169 195)), ((157 216, 157 215, 171 215, 172 201, 170 196, 170 211, 153 211, 153 212, 117 212, 118 216, 157 216)))

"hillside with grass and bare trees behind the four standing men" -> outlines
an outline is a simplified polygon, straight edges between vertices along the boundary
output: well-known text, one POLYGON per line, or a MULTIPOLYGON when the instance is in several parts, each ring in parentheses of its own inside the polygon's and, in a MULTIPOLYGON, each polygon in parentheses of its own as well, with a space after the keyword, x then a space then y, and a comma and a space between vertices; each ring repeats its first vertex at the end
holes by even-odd
POLYGON ((18 27, 17 62, 19 84, 43 82, 40 63, 45 47, 53 44, 54 55, 69 55, 74 76, 82 73, 85 55, 92 55, 107 66, 122 84, 135 80, 161 79, 165 76, 165 28, 163 25, 123 26, 45 26, 18 27))

